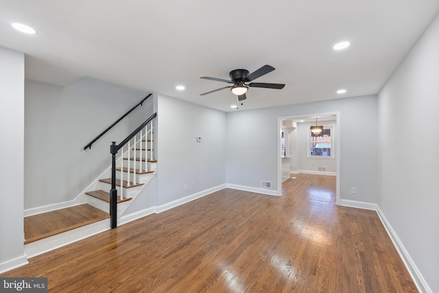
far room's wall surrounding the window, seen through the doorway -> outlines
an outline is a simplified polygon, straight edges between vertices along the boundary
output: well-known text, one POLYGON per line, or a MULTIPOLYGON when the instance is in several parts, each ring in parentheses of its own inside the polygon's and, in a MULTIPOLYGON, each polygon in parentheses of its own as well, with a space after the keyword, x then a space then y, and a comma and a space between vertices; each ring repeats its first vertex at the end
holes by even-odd
MULTIPOLYGON (((319 123, 319 125, 323 126, 332 126, 332 134, 331 134, 331 152, 335 154, 335 148, 337 145, 335 144, 335 129, 336 129, 336 121, 324 121, 319 123)), ((297 124, 297 139, 298 139, 298 169, 300 171, 305 172, 319 172, 318 167, 327 167, 326 172, 337 172, 337 161, 335 159, 319 159, 316 157, 310 158, 308 156, 309 151, 309 126, 315 126, 316 123, 298 123, 297 124)))

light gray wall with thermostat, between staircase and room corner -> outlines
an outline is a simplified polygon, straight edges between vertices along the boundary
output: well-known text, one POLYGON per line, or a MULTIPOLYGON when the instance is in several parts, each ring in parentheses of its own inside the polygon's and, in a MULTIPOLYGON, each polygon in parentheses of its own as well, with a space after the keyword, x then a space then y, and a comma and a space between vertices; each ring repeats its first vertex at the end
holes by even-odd
POLYGON ((158 206, 226 183, 226 124, 222 111, 158 95, 158 206))

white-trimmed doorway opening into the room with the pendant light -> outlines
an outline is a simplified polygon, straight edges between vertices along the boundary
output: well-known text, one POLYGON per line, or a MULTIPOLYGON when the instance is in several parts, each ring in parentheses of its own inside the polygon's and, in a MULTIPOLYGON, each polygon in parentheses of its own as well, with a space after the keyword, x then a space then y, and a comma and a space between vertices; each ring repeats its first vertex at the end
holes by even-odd
POLYGON ((336 176, 336 204, 340 202, 340 113, 316 113, 278 117, 277 180, 282 183, 294 174, 336 176), (323 126, 313 134, 311 126, 323 126))

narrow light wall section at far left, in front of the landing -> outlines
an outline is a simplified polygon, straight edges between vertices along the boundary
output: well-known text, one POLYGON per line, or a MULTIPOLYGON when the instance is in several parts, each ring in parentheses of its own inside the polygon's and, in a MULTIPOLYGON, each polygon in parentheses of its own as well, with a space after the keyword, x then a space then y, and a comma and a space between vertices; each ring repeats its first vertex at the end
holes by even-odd
POLYGON ((0 272, 27 263, 23 253, 23 53, 0 47, 0 272))

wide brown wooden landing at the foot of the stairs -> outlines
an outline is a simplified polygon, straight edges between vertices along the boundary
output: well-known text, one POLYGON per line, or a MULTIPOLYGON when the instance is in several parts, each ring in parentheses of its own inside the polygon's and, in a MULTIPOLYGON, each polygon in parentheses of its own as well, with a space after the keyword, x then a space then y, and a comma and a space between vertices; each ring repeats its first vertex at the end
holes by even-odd
POLYGON ((25 244, 108 218, 108 213, 89 204, 30 215, 24 218, 25 244))

